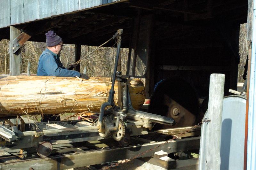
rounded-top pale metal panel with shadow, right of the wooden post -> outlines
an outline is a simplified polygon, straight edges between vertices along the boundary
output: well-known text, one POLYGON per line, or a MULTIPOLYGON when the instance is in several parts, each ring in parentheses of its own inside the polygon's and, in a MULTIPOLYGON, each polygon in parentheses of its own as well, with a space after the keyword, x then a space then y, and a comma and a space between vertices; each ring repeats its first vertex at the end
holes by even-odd
POLYGON ((244 168, 245 112, 245 96, 224 97, 220 138, 220 170, 244 168), (237 158, 238 155, 239 158, 237 158))

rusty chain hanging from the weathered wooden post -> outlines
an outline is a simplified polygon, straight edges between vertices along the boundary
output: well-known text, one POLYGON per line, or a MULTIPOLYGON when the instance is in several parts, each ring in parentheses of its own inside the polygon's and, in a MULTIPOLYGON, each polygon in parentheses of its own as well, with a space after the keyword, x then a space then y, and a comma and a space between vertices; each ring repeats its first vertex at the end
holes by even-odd
POLYGON ((146 153, 148 153, 148 152, 151 152, 151 151, 155 150, 156 148, 159 148, 159 147, 164 146, 164 144, 166 144, 166 143, 170 143, 170 142, 173 141, 174 139, 178 139, 180 136, 183 136, 183 135, 187 134, 188 132, 190 132, 191 130, 196 129, 198 126, 202 126, 203 123, 207 123, 207 122, 210 122, 210 121, 211 121, 211 120, 208 120, 207 118, 205 118, 204 120, 202 120, 201 122, 199 122, 197 125, 194 125, 193 127, 189 128, 189 129, 186 130, 185 132, 180 133, 180 135, 178 135, 178 136, 173 136, 172 139, 169 139, 169 140, 165 141, 164 143, 161 143, 160 145, 157 145, 157 146, 155 146, 155 147, 153 147, 153 148, 151 148, 151 149, 149 149, 149 150, 147 150, 147 151, 140 152, 138 155, 132 156, 132 157, 129 158, 129 159, 123 159, 123 160, 121 160, 120 162, 110 164, 110 166, 104 166, 104 167, 102 167, 100 170, 109 169, 109 168, 111 168, 111 167, 118 166, 119 164, 123 164, 123 163, 125 163, 125 162, 130 162, 131 160, 133 160, 133 159, 135 159, 135 158, 138 158, 138 157, 140 157, 140 156, 142 156, 142 155, 144 155, 144 154, 146 154, 146 153))

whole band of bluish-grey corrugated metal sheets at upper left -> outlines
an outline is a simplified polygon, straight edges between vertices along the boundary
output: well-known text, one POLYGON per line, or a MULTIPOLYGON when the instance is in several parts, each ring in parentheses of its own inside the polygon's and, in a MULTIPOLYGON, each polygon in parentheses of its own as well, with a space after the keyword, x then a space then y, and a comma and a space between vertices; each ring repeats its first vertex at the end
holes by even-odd
POLYGON ((2 0, 0 28, 124 0, 2 0))

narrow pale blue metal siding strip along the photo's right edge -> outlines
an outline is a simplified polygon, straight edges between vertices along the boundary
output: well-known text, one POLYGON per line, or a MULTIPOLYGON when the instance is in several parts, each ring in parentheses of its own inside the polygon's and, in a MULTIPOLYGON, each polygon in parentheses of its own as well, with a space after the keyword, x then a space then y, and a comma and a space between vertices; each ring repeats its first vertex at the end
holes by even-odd
POLYGON ((256 1, 253 1, 252 57, 248 108, 247 169, 256 169, 256 1))

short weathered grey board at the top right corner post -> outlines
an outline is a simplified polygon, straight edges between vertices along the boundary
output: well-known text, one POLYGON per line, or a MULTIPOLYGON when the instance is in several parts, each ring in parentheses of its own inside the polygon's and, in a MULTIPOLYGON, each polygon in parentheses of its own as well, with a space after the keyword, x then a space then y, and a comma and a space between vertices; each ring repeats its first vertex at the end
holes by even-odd
POLYGON ((247 40, 252 40, 253 0, 248 0, 247 40))

